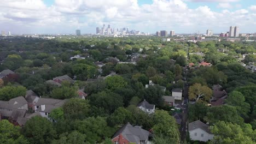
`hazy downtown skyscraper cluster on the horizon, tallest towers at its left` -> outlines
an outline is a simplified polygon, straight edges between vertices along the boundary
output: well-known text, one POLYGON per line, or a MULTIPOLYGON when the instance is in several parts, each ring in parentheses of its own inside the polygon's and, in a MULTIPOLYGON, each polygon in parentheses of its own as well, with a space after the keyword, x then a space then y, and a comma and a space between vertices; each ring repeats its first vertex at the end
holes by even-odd
POLYGON ((104 24, 102 28, 96 27, 96 34, 97 35, 147 35, 144 33, 141 33, 140 31, 135 31, 135 30, 129 30, 128 27, 124 28, 111 28, 110 25, 106 27, 104 24))

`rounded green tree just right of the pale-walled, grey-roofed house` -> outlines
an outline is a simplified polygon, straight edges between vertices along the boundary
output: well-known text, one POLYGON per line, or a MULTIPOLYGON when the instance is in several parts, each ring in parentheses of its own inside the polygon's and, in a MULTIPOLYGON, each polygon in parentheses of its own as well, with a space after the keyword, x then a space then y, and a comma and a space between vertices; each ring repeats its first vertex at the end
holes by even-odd
POLYGON ((88 117, 90 105, 88 100, 72 98, 63 105, 65 118, 84 119, 88 117))

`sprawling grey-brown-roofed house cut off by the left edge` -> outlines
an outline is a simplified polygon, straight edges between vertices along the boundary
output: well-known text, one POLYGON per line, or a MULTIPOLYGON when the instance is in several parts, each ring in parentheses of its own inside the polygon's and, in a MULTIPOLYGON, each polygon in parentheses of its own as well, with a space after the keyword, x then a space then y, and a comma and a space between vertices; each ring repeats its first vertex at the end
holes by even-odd
POLYGON ((8 119, 16 109, 28 110, 27 101, 24 97, 20 96, 9 101, 0 100, 1 118, 8 119))

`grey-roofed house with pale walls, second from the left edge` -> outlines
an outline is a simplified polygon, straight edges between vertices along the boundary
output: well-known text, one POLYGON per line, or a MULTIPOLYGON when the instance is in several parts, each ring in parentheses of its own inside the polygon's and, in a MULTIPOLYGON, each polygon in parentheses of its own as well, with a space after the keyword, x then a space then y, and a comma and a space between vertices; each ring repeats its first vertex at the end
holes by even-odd
POLYGON ((40 98, 34 105, 34 110, 40 112, 40 115, 45 118, 49 118, 49 114, 53 109, 61 107, 67 100, 40 98))

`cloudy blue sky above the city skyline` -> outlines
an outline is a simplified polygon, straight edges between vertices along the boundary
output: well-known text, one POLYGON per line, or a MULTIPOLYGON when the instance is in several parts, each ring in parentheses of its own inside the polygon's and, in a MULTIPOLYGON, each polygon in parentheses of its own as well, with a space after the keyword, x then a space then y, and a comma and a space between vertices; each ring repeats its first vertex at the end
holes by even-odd
POLYGON ((96 33, 112 28, 155 33, 213 33, 239 26, 256 32, 255 0, 1 0, 0 31, 13 34, 96 33))

